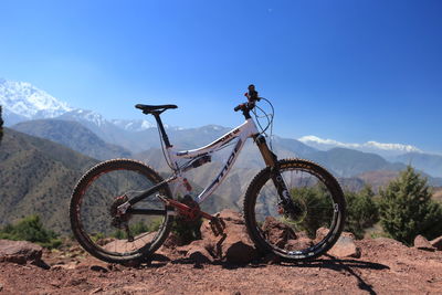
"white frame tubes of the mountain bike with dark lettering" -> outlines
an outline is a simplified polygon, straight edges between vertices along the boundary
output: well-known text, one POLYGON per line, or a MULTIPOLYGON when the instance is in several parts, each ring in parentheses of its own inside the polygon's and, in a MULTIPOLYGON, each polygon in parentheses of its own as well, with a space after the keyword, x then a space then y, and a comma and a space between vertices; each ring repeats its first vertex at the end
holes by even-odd
MULTIPOLYGON (((206 155, 210 155, 212 152, 215 152, 219 150, 221 147, 228 145, 230 141, 233 139, 238 138, 238 143, 232 149, 231 155, 229 156, 227 162, 224 164, 223 168, 217 176, 217 178, 210 183, 198 197, 197 197, 197 202, 201 203, 204 201, 225 179, 228 176, 230 169, 232 168, 233 164, 235 162, 238 155, 240 155, 241 149, 244 146, 245 140, 249 137, 255 136, 259 134, 259 130, 256 128, 255 123, 253 122, 252 118, 246 119, 242 125, 238 126, 236 128, 233 128, 231 131, 227 133, 225 135, 221 136, 213 143, 201 147, 197 149, 191 149, 191 150, 185 150, 185 151, 176 151, 172 147, 167 147, 166 150, 166 156, 167 160, 173 166, 172 169, 175 170, 175 175, 177 178, 180 180, 180 182, 183 182, 183 178, 181 176, 182 170, 186 169, 186 171, 193 169, 193 167, 187 167, 185 169, 180 168, 178 166, 178 160, 179 159, 197 159, 199 157, 203 157, 206 155)), ((162 140, 162 139, 161 139, 162 140)), ((197 167, 198 168, 198 167, 197 167)), ((183 185, 183 183, 181 183, 183 185)), ((176 193, 176 192, 175 192, 176 193)))

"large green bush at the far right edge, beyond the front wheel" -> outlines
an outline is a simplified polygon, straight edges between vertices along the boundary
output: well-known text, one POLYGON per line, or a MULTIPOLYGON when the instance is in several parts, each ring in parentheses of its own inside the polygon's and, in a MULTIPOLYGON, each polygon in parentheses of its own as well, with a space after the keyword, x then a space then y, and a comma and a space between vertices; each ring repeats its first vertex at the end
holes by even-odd
POLYGON ((442 234, 442 207, 431 200, 427 179, 407 167, 380 191, 381 224, 391 238, 411 245, 418 234, 433 239, 442 234))

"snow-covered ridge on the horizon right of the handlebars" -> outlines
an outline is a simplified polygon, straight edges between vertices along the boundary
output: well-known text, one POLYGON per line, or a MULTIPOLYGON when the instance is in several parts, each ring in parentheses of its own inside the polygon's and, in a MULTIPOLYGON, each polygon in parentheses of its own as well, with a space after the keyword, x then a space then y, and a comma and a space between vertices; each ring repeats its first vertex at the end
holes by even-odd
POLYGON ((335 147, 341 147, 341 148, 356 149, 365 152, 375 152, 383 157, 393 157, 407 152, 422 152, 422 150, 411 145, 382 144, 377 141, 367 141, 364 144, 348 144, 348 143, 340 143, 334 139, 324 139, 313 135, 303 136, 298 138, 298 140, 319 150, 328 150, 335 147))

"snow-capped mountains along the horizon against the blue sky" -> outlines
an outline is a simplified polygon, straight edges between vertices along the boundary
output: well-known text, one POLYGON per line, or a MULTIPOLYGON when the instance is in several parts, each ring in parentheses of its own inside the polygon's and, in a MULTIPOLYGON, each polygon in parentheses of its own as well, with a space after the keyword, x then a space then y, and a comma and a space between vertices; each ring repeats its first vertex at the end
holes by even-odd
MULTIPOLYGON (((2 118, 4 125, 8 127, 23 120, 32 119, 53 118, 71 120, 82 124, 105 143, 122 146, 131 152, 140 152, 149 148, 159 147, 158 131, 154 128, 156 124, 154 120, 149 120, 149 118, 109 120, 96 112, 73 108, 29 83, 0 78, 0 104, 3 110, 2 118)), ((168 129, 169 136, 176 147, 183 149, 192 149, 206 145, 230 130, 230 128, 217 125, 208 125, 200 128, 181 128, 167 125, 165 127, 168 129)), ((442 176, 440 156, 438 158, 434 155, 423 154, 419 148, 410 145, 381 144, 377 141, 347 144, 333 139, 322 139, 315 136, 304 136, 299 138, 299 141, 276 137, 274 139, 275 149, 281 157, 305 157, 316 160, 341 176, 365 171, 360 168, 361 162, 369 164, 367 167, 370 167, 370 169, 390 167, 388 164, 387 166, 383 165, 385 162, 380 159, 377 159, 377 162, 381 166, 378 165, 375 167, 373 155, 358 155, 356 150, 373 152, 396 164, 398 161, 404 165, 411 162, 433 176, 442 176), (336 147, 347 148, 347 150, 333 149, 336 147), (318 151, 317 149, 330 150, 318 151), (348 161, 349 167, 341 167, 339 159, 343 158, 348 161), (366 158, 370 159, 367 160, 366 158), (333 160, 336 162, 333 162, 333 160)))

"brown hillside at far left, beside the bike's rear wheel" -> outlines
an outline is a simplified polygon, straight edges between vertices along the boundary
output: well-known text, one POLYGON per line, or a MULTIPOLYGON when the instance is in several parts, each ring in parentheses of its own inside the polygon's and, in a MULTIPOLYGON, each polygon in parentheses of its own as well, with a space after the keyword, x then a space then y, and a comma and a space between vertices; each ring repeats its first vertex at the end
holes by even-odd
POLYGON ((4 129, 0 145, 0 225, 32 213, 67 232, 67 202, 81 175, 95 165, 62 145, 4 129))

